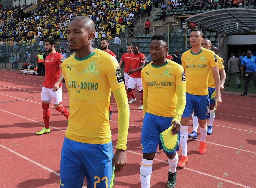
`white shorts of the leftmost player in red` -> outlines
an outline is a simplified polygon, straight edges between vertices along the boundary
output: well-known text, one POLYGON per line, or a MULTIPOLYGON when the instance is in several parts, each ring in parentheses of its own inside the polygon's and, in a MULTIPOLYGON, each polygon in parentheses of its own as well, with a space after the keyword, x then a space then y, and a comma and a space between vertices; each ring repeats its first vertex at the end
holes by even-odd
POLYGON ((61 87, 57 91, 53 91, 53 89, 42 87, 41 92, 41 100, 50 102, 53 104, 61 104, 62 103, 62 89, 61 87))

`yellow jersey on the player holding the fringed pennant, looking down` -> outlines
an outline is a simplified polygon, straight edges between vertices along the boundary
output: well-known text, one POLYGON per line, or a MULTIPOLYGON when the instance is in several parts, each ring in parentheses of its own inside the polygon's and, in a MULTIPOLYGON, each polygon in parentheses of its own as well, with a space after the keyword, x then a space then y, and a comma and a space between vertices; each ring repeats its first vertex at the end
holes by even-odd
POLYGON ((147 64, 141 70, 143 88, 148 88, 148 113, 174 117, 176 113, 176 86, 186 85, 185 74, 181 65, 167 60, 162 66, 147 64))

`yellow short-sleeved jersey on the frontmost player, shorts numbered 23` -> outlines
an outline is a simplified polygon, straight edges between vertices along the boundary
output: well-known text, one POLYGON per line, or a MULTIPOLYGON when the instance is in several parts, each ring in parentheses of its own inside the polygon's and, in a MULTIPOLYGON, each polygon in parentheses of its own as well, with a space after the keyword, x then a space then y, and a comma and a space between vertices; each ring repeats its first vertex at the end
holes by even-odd
POLYGON ((69 125, 66 137, 82 143, 105 144, 111 141, 109 105, 111 89, 124 87, 119 64, 102 50, 62 62, 69 92, 69 125))

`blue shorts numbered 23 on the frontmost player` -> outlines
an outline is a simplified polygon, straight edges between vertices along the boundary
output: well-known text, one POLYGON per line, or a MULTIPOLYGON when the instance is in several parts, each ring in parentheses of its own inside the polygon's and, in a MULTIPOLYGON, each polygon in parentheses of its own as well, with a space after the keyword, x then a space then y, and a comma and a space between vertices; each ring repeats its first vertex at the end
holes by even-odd
POLYGON ((109 187, 112 176, 112 141, 86 144, 65 137, 60 159, 60 188, 109 187))

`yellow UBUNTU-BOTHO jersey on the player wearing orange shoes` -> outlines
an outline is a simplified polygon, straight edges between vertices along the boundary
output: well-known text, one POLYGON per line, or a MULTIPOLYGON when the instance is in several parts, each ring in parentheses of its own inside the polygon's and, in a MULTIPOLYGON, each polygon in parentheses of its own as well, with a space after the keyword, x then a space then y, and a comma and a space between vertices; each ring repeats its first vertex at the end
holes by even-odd
POLYGON ((181 56, 182 67, 186 70, 186 93, 208 95, 208 77, 212 67, 218 65, 215 53, 202 48, 197 54, 190 50, 181 56))

